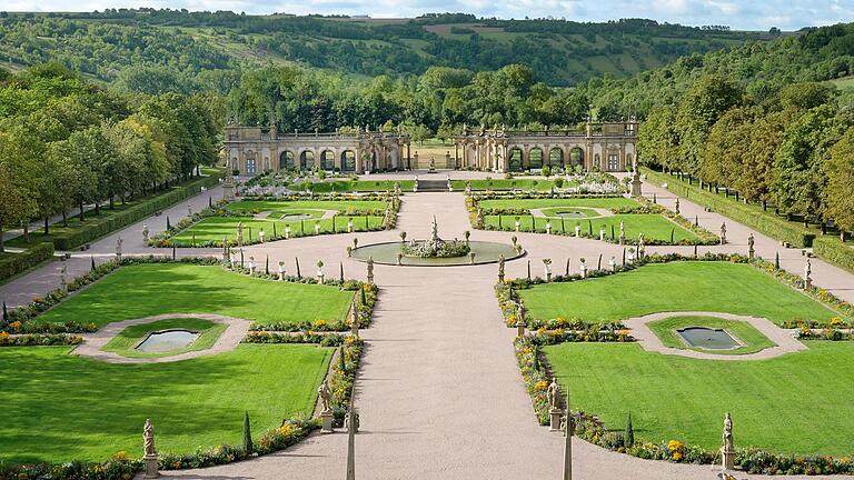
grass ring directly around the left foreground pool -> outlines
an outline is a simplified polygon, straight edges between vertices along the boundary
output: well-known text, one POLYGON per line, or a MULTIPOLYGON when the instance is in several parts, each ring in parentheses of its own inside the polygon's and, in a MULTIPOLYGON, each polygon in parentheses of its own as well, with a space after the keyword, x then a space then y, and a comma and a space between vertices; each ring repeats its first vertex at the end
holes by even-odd
POLYGON ((112 340, 110 340, 101 350, 116 352, 122 357, 129 358, 157 358, 157 357, 171 357, 179 353, 207 350, 214 347, 219 336, 228 328, 225 323, 215 323, 209 320, 202 319, 166 319, 151 323, 143 323, 138 326, 128 327, 112 340), (185 329, 195 332, 199 332, 199 338, 190 343, 187 348, 170 350, 167 352, 143 352, 136 350, 137 344, 148 337, 149 333, 172 330, 185 329))

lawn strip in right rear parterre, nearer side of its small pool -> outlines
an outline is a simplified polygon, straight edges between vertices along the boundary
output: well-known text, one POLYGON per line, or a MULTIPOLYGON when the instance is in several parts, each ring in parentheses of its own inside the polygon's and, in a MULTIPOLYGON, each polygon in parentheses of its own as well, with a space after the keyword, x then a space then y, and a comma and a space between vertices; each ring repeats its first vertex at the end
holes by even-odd
MULTIPOLYGON (((485 216, 484 223, 493 226, 500 230, 515 230, 517 216, 485 216), (499 220, 500 217, 500 220, 499 220)), ((595 238, 599 237, 599 229, 605 228, 605 237, 619 238, 619 222, 623 221, 623 228, 626 232, 626 238, 636 240, 640 233, 644 238, 649 240, 658 240, 663 242, 671 241, 671 233, 673 233, 673 241, 675 243, 688 240, 699 240, 694 232, 686 230, 685 228, 672 222, 659 214, 647 213, 627 213, 615 214, 612 217, 600 217, 593 219, 546 219, 532 216, 519 216, 519 229, 522 231, 537 231, 545 232, 546 223, 552 222, 553 232, 568 232, 575 234, 575 226, 582 227, 582 233, 589 234, 593 232, 595 238)))

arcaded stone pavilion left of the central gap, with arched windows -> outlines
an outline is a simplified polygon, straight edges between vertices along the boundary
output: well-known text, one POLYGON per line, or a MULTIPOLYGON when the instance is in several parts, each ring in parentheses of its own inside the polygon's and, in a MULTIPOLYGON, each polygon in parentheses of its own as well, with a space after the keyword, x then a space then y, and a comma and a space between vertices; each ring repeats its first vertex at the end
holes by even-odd
POLYGON ((230 170, 254 177, 265 171, 309 170, 365 173, 409 168, 409 137, 401 133, 287 133, 275 127, 226 127, 230 170))

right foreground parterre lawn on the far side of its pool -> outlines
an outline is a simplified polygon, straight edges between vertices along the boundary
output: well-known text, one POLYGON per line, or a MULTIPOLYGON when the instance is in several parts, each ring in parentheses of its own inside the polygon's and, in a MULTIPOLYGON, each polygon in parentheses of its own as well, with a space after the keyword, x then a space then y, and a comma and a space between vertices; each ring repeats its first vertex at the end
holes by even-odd
MULTIPOLYGON (((577 264, 573 259, 575 271, 577 264)), ((648 264, 615 276, 535 286, 519 294, 538 319, 623 320, 694 310, 764 317, 781 323, 826 321, 836 314, 748 264, 729 262, 648 264)))

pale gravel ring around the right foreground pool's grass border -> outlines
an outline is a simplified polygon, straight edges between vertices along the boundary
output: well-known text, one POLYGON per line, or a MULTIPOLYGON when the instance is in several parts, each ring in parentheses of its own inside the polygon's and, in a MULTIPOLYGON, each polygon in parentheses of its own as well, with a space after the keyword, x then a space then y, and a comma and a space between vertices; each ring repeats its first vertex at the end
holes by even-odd
POLYGON ((628 320, 624 320, 623 323, 632 329, 632 337, 637 339, 638 343, 644 350, 656 351, 664 354, 689 357, 695 359, 705 360, 728 360, 728 361, 745 361, 745 360, 763 360, 782 354, 806 350, 806 346, 801 343, 797 339, 792 337, 791 330, 784 330, 771 322, 771 320, 759 317, 748 317, 732 313, 722 312, 704 312, 704 311, 678 311, 678 312, 658 312, 643 317, 633 317, 628 320), (752 324, 756 330, 762 332, 768 340, 776 343, 776 347, 766 348, 755 353, 746 354, 715 354, 708 352, 699 352, 688 349, 677 349, 665 347, 662 340, 656 336, 647 323, 664 320, 671 317, 716 317, 725 320, 738 320, 745 321, 752 324))

